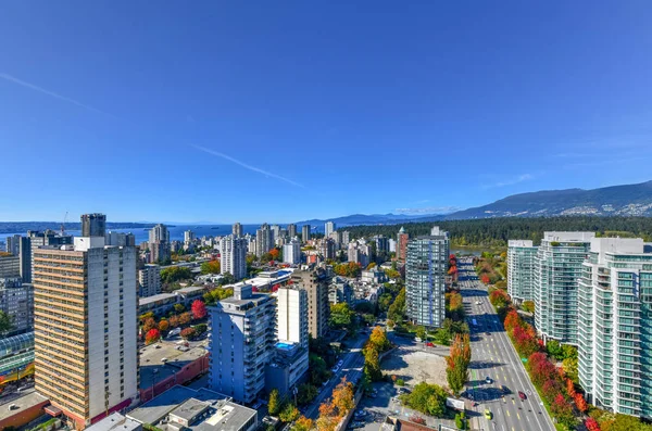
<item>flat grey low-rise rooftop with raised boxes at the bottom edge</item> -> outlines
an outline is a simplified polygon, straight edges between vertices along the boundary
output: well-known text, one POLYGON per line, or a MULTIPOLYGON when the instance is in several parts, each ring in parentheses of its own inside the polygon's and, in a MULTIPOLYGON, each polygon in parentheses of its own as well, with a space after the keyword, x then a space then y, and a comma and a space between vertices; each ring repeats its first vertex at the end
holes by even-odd
POLYGON ((230 397, 217 392, 176 385, 130 411, 127 417, 166 431, 167 426, 160 422, 168 415, 191 419, 204 409, 209 414, 196 423, 191 422, 187 430, 237 431, 258 415, 256 410, 233 403, 230 397))

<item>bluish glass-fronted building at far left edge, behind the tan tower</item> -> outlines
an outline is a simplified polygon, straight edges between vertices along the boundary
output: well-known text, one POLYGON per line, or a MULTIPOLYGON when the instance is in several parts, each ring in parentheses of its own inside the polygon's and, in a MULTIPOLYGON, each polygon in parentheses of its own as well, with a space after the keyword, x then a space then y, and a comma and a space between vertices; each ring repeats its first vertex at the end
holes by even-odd
POLYGON ((21 277, 0 277, 0 310, 12 319, 9 334, 24 333, 34 328, 34 288, 21 277))

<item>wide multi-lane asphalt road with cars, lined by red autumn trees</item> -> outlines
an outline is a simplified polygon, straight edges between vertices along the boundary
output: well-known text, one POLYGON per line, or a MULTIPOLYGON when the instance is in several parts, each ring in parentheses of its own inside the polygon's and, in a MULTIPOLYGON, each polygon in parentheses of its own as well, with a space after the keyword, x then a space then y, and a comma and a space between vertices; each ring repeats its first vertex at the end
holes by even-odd
POLYGON ((459 286, 472 335, 468 392, 479 402, 473 408, 477 414, 472 419, 472 428, 485 431, 554 430, 521 358, 489 303, 487 289, 477 280, 471 263, 461 261, 459 265, 459 286), (472 325, 473 319, 476 319, 477 327, 472 325), (491 383, 485 381, 487 377, 491 383), (509 389, 504 396, 503 385, 509 389), (521 401, 518 391, 524 392, 527 400, 521 401), (493 414, 491 420, 484 416, 486 408, 493 414))

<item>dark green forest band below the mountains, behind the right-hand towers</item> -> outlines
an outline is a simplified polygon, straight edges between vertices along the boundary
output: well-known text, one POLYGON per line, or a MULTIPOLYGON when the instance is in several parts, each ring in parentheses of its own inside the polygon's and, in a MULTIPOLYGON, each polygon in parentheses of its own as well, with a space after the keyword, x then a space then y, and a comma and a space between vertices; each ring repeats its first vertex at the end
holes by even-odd
MULTIPOLYGON (((530 239, 539 244, 544 231, 588 230, 599 236, 641 237, 652 241, 652 217, 597 217, 566 216, 541 218, 482 218, 472 220, 446 220, 408 223, 403 227, 411 238, 429 234, 432 226, 448 230, 452 245, 506 246, 507 240, 530 239)), ((347 230, 351 239, 384 234, 396 238, 400 225, 352 226, 347 230)))

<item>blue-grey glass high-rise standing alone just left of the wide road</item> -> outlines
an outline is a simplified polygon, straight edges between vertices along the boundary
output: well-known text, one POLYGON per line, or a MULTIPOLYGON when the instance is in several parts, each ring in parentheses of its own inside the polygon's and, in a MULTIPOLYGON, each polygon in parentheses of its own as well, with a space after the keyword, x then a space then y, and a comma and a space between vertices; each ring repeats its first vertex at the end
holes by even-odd
POLYGON ((444 318, 448 232, 432 228, 430 236, 408 243, 405 261, 405 310, 415 325, 439 328, 444 318))

